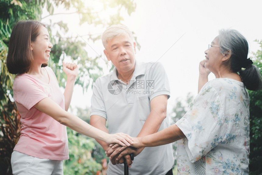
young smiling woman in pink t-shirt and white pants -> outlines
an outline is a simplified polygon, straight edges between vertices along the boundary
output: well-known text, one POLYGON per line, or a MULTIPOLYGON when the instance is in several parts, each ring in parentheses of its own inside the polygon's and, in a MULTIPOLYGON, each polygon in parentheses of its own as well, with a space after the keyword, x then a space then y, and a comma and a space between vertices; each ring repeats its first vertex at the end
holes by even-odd
POLYGON ((19 21, 12 30, 6 64, 11 74, 17 74, 13 93, 22 123, 11 157, 13 174, 63 174, 63 160, 69 159, 66 126, 108 144, 133 143, 127 134, 105 133, 67 112, 78 67, 63 62, 63 94, 46 64, 52 47, 48 30, 38 21, 19 21))

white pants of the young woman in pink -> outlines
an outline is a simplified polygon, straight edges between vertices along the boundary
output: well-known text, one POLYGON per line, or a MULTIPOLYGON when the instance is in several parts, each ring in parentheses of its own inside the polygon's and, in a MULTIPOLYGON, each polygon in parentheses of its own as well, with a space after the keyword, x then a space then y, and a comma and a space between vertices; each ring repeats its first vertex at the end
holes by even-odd
POLYGON ((63 160, 40 159, 19 151, 11 156, 13 175, 63 175, 63 160))

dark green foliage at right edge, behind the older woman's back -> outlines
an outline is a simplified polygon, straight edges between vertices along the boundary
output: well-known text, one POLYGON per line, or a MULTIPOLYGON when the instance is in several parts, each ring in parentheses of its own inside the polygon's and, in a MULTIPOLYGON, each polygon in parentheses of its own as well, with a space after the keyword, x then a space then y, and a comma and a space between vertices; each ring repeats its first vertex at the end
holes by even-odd
MULTIPOLYGON (((262 40, 258 41, 261 49, 254 54, 253 64, 257 65, 262 73, 262 40)), ((262 90, 250 91, 250 175, 261 174, 262 172, 262 90)))

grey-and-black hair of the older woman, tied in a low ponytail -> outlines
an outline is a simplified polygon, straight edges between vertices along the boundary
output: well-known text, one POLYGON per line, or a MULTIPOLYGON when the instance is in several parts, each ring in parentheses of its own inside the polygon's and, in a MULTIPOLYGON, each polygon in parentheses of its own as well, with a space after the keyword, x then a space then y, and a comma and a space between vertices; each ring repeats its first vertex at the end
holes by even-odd
POLYGON ((260 90, 262 89, 262 78, 257 66, 253 65, 253 61, 247 58, 248 43, 246 38, 238 31, 232 29, 223 29, 219 31, 218 43, 221 53, 232 53, 230 61, 230 69, 233 72, 239 72, 246 89, 260 90), (245 69, 242 69, 245 68, 245 69))

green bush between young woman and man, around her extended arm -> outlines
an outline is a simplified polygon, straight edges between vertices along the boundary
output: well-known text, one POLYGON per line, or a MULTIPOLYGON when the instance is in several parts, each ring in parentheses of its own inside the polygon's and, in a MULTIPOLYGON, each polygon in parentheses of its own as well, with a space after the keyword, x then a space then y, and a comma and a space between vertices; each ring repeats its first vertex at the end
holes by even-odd
MULTIPOLYGON (((89 109, 76 108, 76 115, 85 122, 90 121, 89 109)), ((92 175, 102 171, 102 160, 109 159, 104 149, 93 138, 84 136, 67 128, 69 140, 69 159, 64 161, 65 175, 92 175)))

